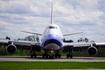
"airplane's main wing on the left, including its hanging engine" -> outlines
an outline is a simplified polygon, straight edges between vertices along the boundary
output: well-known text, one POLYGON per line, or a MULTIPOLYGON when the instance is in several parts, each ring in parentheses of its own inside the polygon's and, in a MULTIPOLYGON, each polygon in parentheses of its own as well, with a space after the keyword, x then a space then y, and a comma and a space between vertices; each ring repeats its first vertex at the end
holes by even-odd
POLYGON ((8 53, 15 53, 17 49, 26 49, 30 51, 40 51, 40 42, 33 41, 11 41, 11 40, 2 40, 0 39, 0 45, 4 46, 8 53))

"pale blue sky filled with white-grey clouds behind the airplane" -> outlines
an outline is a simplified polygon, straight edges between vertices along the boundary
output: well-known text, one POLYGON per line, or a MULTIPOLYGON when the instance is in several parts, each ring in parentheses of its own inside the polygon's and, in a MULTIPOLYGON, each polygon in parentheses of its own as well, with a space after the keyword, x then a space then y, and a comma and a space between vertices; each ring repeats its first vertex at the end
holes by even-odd
MULTIPOLYGON (((105 41, 105 0, 55 0, 54 23, 65 37, 105 41)), ((51 0, 0 0, 0 38, 24 38, 20 30, 43 33, 50 24, 51 0)))

